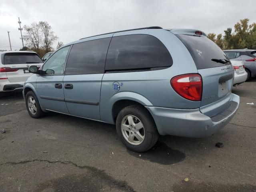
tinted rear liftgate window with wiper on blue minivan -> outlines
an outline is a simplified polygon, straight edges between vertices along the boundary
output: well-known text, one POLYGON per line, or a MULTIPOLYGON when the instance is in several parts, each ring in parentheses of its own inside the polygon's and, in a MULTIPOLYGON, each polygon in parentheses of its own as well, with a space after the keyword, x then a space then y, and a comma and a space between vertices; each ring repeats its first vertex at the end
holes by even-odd
POLYGON ((184 43, 190 52, 197 69, 213 68, 225 66, 230 63, 222 64, 214 62, 212 59, 227 59, 221 48, 214 42, 204 36, 193 36, 185 34, 176 34, 176 36, 184 43))

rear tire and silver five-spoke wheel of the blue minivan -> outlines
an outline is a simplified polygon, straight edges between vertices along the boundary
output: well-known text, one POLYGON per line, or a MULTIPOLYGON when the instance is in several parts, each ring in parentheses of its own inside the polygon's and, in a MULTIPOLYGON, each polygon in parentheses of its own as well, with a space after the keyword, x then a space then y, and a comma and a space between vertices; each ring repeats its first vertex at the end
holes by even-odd
POLYGON ((116 118, 116 132, 132 151, 145 152, 158 140, 156 124, 148 110, 139 105, 123 108, 116 118))

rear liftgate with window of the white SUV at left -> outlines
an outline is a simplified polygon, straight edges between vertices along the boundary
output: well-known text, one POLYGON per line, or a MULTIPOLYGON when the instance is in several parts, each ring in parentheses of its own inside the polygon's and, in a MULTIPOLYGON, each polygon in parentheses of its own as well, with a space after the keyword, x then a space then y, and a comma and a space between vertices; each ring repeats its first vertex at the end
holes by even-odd
POLYGON ((6 72, 10 82, 26 81, 31 75, 28 68, 31 65, 40 67, 42 59, 35 52, 12 52, 4 54, 4 65, 8 69, 6 72))

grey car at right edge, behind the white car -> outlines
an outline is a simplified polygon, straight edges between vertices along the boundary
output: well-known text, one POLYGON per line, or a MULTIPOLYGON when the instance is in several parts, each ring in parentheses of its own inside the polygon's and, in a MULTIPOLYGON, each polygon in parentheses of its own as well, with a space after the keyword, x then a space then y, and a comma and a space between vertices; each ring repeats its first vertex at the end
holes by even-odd
POLYGON ((247 79, 256 76, 256 50, 234 49, 224 50, 230 60, 239 60, 244 63, 247 79))

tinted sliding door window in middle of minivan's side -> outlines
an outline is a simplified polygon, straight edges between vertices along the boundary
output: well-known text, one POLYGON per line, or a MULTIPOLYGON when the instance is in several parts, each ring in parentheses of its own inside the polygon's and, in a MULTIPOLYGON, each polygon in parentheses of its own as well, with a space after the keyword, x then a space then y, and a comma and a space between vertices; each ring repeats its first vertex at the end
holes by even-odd
POLYGON ((66 64, 66 75, 104 73, 106 54, 111 38, 74 44, 66 64))

